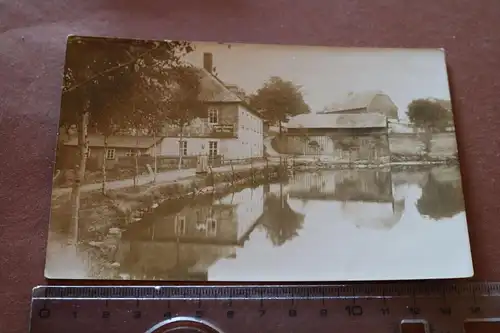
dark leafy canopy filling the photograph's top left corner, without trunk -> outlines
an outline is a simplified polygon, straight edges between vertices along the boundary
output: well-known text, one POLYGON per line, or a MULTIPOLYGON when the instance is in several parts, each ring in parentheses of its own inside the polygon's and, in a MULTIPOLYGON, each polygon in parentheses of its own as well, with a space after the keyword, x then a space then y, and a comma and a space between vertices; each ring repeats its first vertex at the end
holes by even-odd
POLYGON ((63 81, 62 126, 89 126, 103 134, 142 128, 158 113, 174 79, 167 71, 182 66, 193 51, 187 42, 156 42, 89 37, 68 40, 63 81))

